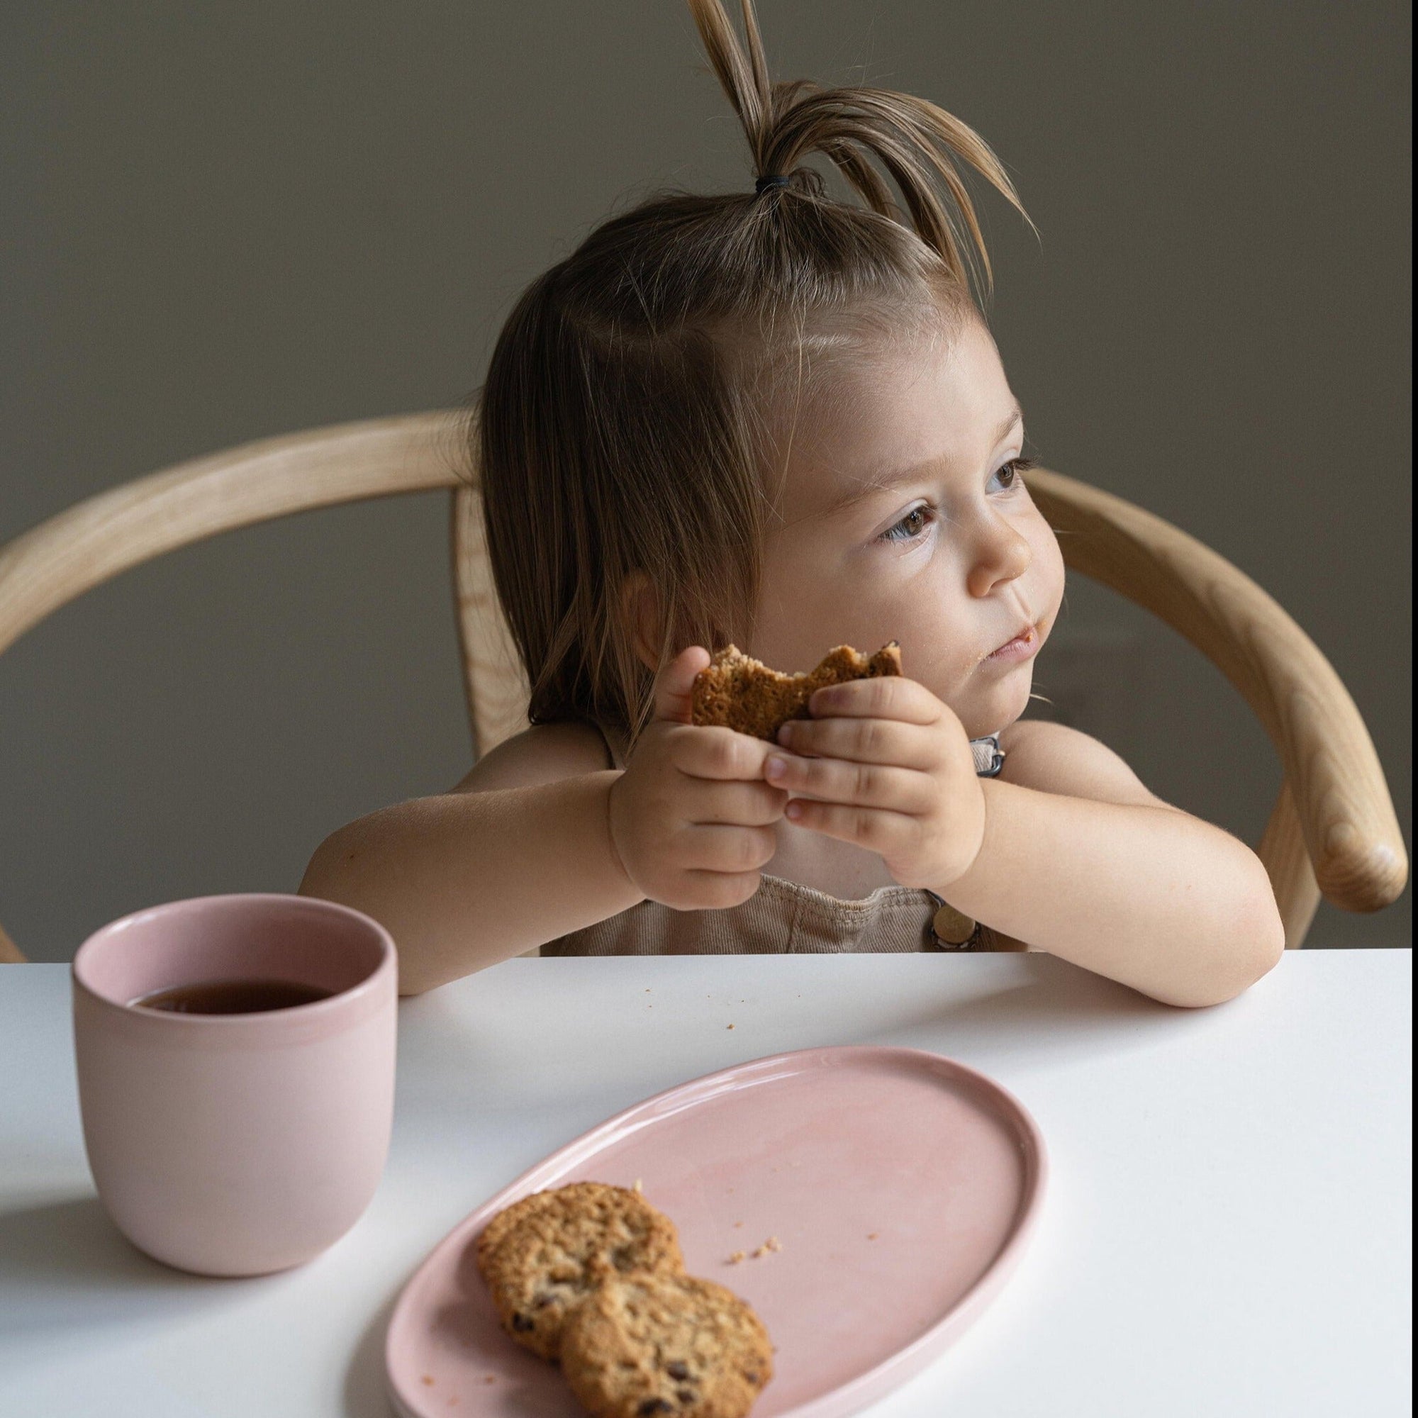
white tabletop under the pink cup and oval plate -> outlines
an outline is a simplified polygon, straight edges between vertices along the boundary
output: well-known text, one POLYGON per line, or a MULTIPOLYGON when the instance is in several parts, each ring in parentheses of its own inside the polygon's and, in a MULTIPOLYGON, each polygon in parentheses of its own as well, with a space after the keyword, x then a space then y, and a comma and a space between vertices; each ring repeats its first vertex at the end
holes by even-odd
POLYGON ((354 1229, 295 1272, 200 1280, 95 1200, 68 967, 7 966, 0 1415, 387 1418, 393 1299, 476 1202, 659 1089, 868 1042, 991 1073, 1052 1164, 1004 1293, 872 1418, 1407 1414, 1411 978, 1408 950, 1303 951, 1188 1012, 1046 956, 510 960, 401 1005, 354 1229))

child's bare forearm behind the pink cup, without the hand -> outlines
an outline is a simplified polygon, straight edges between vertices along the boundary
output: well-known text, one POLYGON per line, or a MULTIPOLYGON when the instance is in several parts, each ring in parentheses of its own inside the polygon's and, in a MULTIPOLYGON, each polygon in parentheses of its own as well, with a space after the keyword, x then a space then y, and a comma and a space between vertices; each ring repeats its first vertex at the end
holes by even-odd
POLYGON ((379 920, 398 947, 400 993, 417 994, 644 899, 611 847, 617 777, 381 808, 320 844, 301 892, 379 920))

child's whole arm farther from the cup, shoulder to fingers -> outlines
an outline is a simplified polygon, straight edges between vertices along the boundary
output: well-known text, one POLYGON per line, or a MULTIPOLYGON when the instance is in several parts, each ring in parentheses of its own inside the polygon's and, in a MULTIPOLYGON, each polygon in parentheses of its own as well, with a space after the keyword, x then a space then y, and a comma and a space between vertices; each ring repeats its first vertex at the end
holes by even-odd
POLYGON ((1058 725, 1007 766, 1048 788, 974 777, 959 718, 908 679, 820 691, 770 781, 824 801, 787 815, 881 852, 991 927, 1168 1004, 1218 1004, 1280 957, 1259 858, 1154 798, 1109 749, 1058 725), (831 718, 827 718, 831 715, 831 718), (820 757, 801 759, 810 753, 820 757))

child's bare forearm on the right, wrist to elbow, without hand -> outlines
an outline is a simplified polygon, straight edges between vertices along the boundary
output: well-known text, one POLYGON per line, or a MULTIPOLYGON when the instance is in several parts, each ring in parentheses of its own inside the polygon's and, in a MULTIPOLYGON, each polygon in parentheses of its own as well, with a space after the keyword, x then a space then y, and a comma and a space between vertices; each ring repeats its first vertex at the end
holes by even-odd
POLYGON ((1285 927, 1259 858, 1176 808, 994 778, 974 865, 942 895, 1005 934, 1168 1004, 1218 1004, 1269 970, 1285 927))

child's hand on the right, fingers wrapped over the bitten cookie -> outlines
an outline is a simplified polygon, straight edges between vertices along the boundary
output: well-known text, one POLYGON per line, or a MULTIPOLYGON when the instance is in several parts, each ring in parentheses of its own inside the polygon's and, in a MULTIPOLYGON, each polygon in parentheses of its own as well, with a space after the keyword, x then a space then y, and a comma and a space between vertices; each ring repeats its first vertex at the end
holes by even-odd
POLYGON ((764 777, 800 827, 881 854, 902 886, 943 892, 974 864, 986 800, 956 712, 903 676, 818 689, 790 719, 764 777), (798 797, 798 794, 804 794, 798 797))

